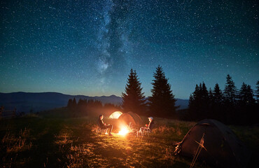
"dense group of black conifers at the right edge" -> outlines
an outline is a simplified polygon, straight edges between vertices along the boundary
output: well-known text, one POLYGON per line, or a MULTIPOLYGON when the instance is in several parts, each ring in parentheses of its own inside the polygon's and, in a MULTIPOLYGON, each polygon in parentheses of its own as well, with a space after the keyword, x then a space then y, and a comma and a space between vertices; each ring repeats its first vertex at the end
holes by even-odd
POLYGON ((227 124, 247 125, 258 123, 259 118, 259 81, 256 90, 243 83, 237 90, 231 76, 226 78, 225 88, 221 90, 216 83, 213 90, 205 83, 196 85, 190 95, 187 120, 213 118, 227 124))

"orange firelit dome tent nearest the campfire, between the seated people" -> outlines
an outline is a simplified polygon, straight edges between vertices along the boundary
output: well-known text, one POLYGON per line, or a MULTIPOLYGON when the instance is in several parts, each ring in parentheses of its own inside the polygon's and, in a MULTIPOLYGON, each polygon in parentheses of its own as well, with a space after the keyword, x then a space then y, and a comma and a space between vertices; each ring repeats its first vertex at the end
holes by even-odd
POLYGON ((142 119, 137 115, 137 113, 132 113, 131 111, 128 113, 123 113, 118 118, 120 123, 123 123, 125 125, 129 125, 131 123, 132 127, 139 127, 143 125, 142 119))

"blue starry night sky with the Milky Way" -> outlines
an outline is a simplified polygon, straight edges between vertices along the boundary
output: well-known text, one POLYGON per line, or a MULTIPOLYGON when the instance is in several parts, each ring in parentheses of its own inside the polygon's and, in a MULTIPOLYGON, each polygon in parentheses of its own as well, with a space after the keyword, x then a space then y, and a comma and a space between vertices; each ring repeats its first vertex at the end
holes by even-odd
POLYGON ((195 85, 259 80, 258 2, 66 0, 1 4, 0 92, 102 96, 136 69, 146 96, 160 64, 176 98, 195 85))

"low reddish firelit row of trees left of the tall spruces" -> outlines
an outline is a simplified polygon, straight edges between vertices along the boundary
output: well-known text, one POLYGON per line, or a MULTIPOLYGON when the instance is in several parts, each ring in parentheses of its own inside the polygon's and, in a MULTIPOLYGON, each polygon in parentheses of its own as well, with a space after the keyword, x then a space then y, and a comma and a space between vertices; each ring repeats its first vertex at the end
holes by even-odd
POLYGON ((69 99, 67 109, 73 116, 99 116, 100 113, 104 116, 109 116, 113 111, 121 111, 120 106, 115 104, 102 104, 99 100, 93 99, 69 99))

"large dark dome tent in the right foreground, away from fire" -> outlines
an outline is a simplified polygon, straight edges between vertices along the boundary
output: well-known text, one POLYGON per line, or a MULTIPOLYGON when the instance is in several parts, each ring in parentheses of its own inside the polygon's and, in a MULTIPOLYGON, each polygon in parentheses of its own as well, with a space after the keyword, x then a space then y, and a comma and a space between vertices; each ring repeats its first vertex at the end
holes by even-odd
POLYGON ((176 146, 176 153, 195 158, 202 144, 198 160, 216 167, 246 167, 251 153, 237 136, 223 123, 216 120, 202 120, 194 125, 176 146))

